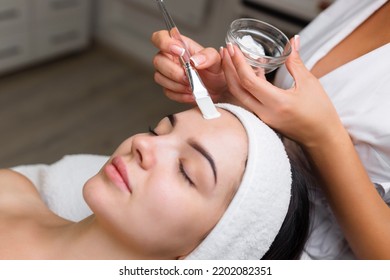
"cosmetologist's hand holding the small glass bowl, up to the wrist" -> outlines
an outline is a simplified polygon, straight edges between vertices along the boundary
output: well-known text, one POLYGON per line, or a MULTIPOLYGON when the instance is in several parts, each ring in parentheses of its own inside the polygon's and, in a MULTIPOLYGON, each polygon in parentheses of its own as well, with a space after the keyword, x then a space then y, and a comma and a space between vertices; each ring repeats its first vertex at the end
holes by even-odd
POLYGON ((293 50, 286 61, 295 80, 287 90, 256 76, 236 46, 223 50, 222 65, 229 91, 243 106, 285 136, 313 148, 345 129, 319 80, 301 61, 298 40, 291 40, 293 50))

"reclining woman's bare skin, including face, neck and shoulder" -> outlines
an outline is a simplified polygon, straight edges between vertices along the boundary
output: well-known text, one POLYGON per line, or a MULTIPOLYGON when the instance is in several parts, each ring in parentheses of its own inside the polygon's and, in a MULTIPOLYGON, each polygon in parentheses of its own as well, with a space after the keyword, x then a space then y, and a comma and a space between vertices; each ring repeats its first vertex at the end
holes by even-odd
POLYGON ((245 169, 245 130, 220 112, 205 120, 184 111, 125 140, 85 183, 94 214, 77 223, 54 214, 26 177, 0 170, 0 259, 185 257, 221 218, 245 169))

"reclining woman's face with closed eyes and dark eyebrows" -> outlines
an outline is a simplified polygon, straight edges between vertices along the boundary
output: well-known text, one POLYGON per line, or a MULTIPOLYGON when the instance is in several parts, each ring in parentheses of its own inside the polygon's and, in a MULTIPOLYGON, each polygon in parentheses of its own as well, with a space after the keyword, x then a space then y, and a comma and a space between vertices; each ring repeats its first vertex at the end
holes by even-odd
POLYGON ((197 109, 125 140, 84 186, 96 218, 145 258, 190 253, 231 201, 245 169, 247 136, 227 111, 197 109))

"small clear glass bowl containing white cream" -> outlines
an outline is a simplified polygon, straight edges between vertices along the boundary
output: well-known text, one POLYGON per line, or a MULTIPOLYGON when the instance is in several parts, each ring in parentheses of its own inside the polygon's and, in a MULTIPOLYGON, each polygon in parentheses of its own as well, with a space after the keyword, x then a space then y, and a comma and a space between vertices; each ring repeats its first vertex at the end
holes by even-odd
POLYGON ((258 72, 270 73, 280 67, 291 53, 287 36, 266 22, 240 18, 230 24, 226 43, 237 45, 247 62, 258 72))

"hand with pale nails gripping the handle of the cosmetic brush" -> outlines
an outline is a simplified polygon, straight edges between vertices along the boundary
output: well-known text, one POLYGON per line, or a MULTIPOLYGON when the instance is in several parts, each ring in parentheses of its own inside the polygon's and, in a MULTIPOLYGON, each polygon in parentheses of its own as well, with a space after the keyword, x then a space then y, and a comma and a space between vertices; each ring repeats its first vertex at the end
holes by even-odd
MULTIPOLYGON (((218 51, 214 48, 204 48, 190 38, 183 35, 182 37, 192 55, 193 65, 211 98, 214 102, 221 101, 227 95, 227 84, 218 51)), ((168 98, 181 103, 194 102, 188 79, 179 60, 183 51, 180 42, 172 39, 166 30, 153 33, 151 41, 159 49, 153 58, 156 83, 163 87, 168 98)))

